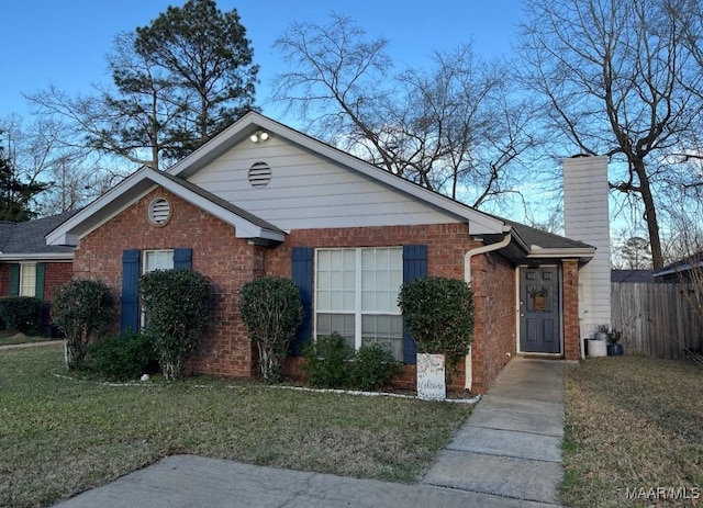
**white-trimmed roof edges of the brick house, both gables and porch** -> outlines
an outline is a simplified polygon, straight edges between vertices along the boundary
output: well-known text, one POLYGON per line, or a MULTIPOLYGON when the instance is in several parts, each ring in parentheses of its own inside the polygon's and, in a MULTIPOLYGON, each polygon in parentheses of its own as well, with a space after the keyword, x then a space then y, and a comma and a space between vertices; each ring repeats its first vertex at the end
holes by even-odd
POLYGON ((275 224, 268 223, 189 181, 191 176, 208 167, 233 146, 248 139, 258 131, 266 131, 269 135, 298 145, 331 162, 401 192, 415 202, 424 203, 434 210, 457 217, 461 222, 466 221, 469 224, 470 234, 483 236, 487 242, 498 241, 506 234, 511 235, 513 241, 509 250, 511 250, 510 257, 513 260, 522 260, 525 257, 557 258, 563 256, 587 260, 593 256, 594 248, 583 242, 479 212, 256 112, 245 114, 219 136, 166 171, 156 171, 148 167, 137 170, 76 216, 52 230, 47 235, 47 241, 52 245, 78 245, 80 237, 129 207, 156 185, 166 188, 191 204, 233 225, 238 237, 282 241, 286 234, 275 224))

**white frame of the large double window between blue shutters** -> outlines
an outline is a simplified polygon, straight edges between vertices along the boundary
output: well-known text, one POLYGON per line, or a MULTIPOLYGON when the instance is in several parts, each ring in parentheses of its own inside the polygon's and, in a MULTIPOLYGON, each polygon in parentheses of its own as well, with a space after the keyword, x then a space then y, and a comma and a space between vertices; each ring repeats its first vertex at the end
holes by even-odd
MULTIPOLYGON (((319 336, 317 332, 317 316, 319 314, 337 314, 337 315, 354 315, 354 347, 355 349, 359 349, 362 345, 362 318, 364 316, 402 316, 400 307, 398 304, 394 305, 394 308, 391 311, 364 311, 362 309, 362 261, 361 257, 364 251, 366 250, 377 250, 377 249, 398 249, 401 253, 401 264, 397 267, 399 271, 402 273, 402 246, 380 246, 380 247, 338 247, 338 248, 317 248, 315 249, 315 264, 314 264, 314 319, 313 319, 313 336, 316 338, 319 336), (328 309, 320 309, 319 307, 319 274, 320 274, 320 253, 323 251, 355 251, 355 295, 354 295, 354 311, 328 311, 328 309)), ((402 278, 400 281, 402 284, 402 278)), ((390 290, 390 289, 389 289, 390 290)), ((398 292, 400 292, 400 285, 398 286, 398 292)), ((402 340, 402 332, 400 340, 402 340)))

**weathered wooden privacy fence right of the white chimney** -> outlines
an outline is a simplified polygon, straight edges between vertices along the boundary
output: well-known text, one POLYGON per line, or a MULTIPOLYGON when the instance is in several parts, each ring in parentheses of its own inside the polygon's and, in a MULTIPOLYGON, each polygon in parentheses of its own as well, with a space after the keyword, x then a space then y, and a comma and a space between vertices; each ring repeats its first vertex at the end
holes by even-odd
POLYGON ((690 291, 683 283, 611 283, 611 326, 623 332, 625 353, 682 360, 703 352, 690 291))

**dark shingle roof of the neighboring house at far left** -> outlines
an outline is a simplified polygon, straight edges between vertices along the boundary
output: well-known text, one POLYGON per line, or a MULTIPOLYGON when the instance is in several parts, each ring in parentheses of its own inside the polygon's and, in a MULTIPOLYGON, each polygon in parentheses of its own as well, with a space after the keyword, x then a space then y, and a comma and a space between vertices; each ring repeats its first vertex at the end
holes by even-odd
POLYGON ((72 252, 72 247, 46 245, 44 236, 76 212, 77 211, 65 212, 25 223, 0 222, 0 253, 37 255, 72 252))

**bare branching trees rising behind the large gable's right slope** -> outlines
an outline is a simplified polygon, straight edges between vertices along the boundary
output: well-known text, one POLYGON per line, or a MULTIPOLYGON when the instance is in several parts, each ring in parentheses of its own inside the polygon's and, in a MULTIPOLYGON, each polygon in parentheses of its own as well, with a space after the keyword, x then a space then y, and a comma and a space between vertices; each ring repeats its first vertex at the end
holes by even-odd
POLYGON ((515 193, 507 169, 536 144, 532 108, 510 89, 506 65, 471 45, 436 53, 432 68, 392 75, 383 38, 352 19, 293 23, 276 46, 289 64, 274 99, 339 148, 473 206, 515 193))

